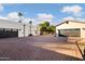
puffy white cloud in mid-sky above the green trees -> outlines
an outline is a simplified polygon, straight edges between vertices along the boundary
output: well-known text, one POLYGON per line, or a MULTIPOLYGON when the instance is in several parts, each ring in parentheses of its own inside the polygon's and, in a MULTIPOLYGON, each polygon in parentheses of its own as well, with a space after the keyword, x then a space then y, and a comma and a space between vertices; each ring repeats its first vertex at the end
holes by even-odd
POLYGON ((54 18, 54 16, 52 14, 40 13, 40 14, 37 15, 37 18, 40 22, 44 22, 44 21, 52 22, 52 20, 54 18))

